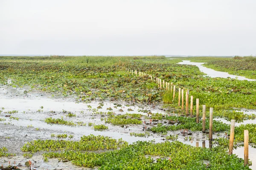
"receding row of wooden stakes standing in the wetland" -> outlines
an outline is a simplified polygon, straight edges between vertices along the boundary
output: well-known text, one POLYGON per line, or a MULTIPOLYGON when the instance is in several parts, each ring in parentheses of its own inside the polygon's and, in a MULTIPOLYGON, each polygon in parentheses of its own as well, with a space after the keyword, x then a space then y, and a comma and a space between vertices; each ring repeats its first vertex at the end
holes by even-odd
MULTIPOLYGON (((126 71, 129 72, 129 69, 126 71)), ((138 74, 137 71, 131 70, 131 74, 138 74)), ((139 77, 144 77, 148 76, 150 77, 151 80, 153 80, 152 75, 146 74, 144 72, 139 71, 139 77)), ((162 89, 162 84, 163 88, 166 87, 166 90, 170 90, 170 83, 165 82, 163 80, 159 79, 156 77, 154 81, 157 82, 158 87, 162 89)), ((173 93, 172 99, 174 101, 175 99, 175 91, 176 91, 176 86, 173 85, 171 82, 171 94, 173 93)), ((178 89, 178 106, 180 106, 180 99, 181 99, 181 110, 184 110, 184 88, 178 89)), ((205 132, 205 119, 206 119, 206 105, 203 105, 203 116, 202 116, 202 131, 205 132)), ((189 115, 189 89, 186 91, 186 116, 189 115)), ((190 96, 190 117, 193 116, 193 96, 190 96)), ((210 108, 209 111, 209 141, 212 140, 212 120, 213 120, 213 108, 210 108)), ((199 99, 196 99, 196 123, 199 123, 199 99)), ((230 144, 229 144, 229 154, 233 153, 233 142, 234 142, 234 130, 235 130, 235 120, 231 120, 231 126, 230 126, 230 144)), ((248 135, 248 130, 244 130, 244 166, 248 164, 248 142, 249 142, 249 135, 248 135)))

